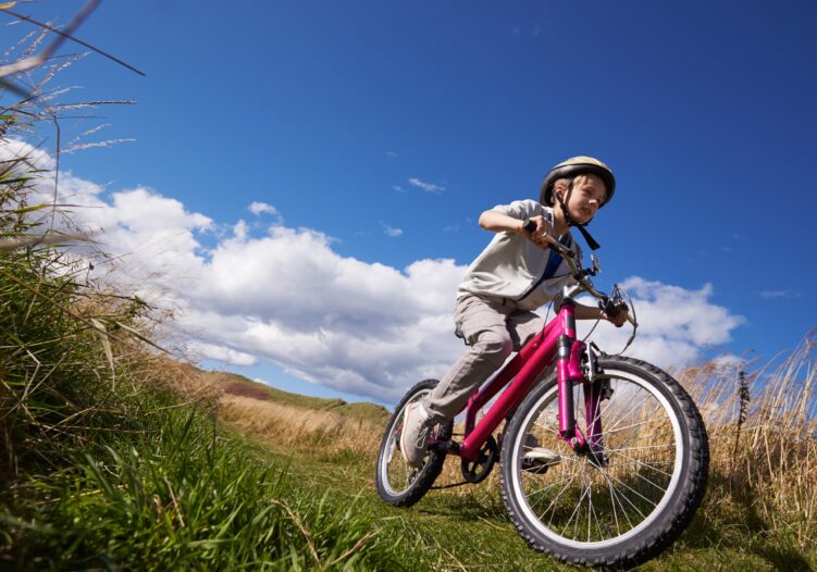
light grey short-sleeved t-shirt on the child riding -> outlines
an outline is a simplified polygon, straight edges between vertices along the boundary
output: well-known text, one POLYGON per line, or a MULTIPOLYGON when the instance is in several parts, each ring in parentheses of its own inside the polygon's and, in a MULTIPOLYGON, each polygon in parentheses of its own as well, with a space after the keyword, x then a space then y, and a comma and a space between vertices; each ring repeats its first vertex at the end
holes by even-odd
MULTIPOLYGON (((492 210, 520 220, 543 215, 553 222, 553 209, 535 200, 498 204, 492 210)), ((581 260, 582 251, 570 233, 559 240, 577 253, 577 260, 581 260)), ((520 234, 499 232, 469 266, 457 289, 457 298, 475 294, 487 298, 505 298, 521 310, 536 309, 559 296, 565 286, 575 284, 564 260, 552 278, 540 282, 549 254, 549 249, 537 247, 520 234)))

